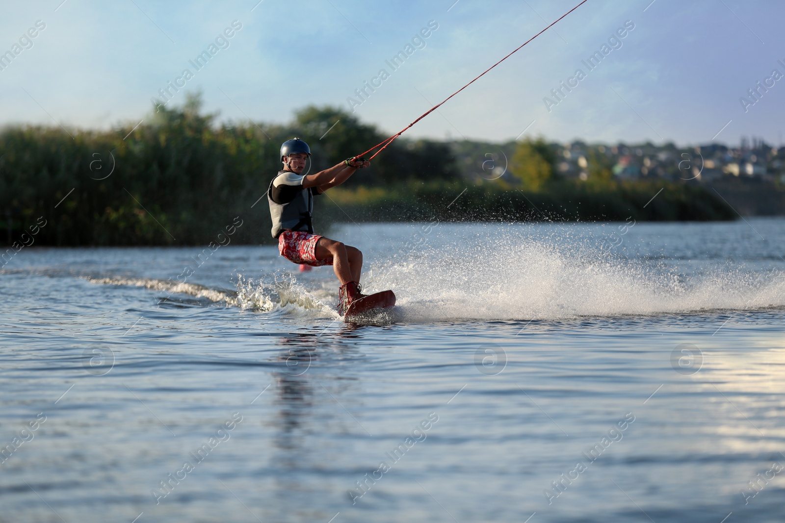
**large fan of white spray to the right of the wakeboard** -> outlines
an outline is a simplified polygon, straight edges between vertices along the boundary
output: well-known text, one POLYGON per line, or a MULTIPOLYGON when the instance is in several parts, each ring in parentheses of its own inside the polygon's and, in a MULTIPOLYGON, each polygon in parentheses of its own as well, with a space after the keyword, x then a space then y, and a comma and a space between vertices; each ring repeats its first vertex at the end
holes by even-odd
POLYGON ((683 274, 643 260, 495 238, 372 271, 409 321, 559 320, 785 307, 785 272, 718 267, 683 274))

